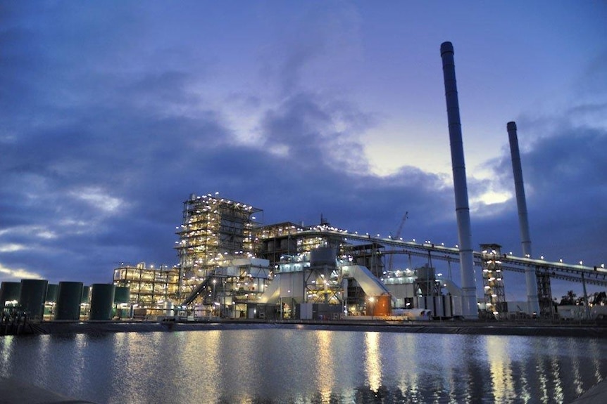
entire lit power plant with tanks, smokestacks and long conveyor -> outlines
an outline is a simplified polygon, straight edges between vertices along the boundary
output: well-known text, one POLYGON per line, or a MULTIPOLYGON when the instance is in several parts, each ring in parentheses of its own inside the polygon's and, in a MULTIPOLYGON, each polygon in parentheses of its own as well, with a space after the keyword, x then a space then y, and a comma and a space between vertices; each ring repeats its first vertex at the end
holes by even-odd
MULTIPOLYGON (((533 259, 515 122, 511 145, 522 256, 501 246, 472 245, 453 46, 441 46, 444 70, 458 245, 373 237, 320 223, 265 224, 263 209, 219 193, 192 194, 175 228, 178 263, 123 263, 108 284, 46 280, 2 282, 3 321, 20 310, 32 320, 208 319, 430 320, 433 318, 553 318, 551 279, 607 285, 607 271, 533 259), (394 260, 395 256, 405 259, 394 260), (426 263, 413 267, 412 257, 426 263), (409 265, 396 267, 396 261, 409 265), (437 263, 446 268, 439 269, 437 263), (457 266, 459 281, 451 277, 457 266), (475 267, 482 273, 477 292, 475 267), (506 302, 504 275, 525 274, 527 301, 506 302), (479 298, 480 296, 480 298, 479 298), (522 306, 522 307, 521 307, 522 306)), ((587 299, 585 301, 588 301, 587 299)), ((589 313, 587 317, 590 317, 589 313)), ((14 319, 14 317, 12 317, 14 319)))

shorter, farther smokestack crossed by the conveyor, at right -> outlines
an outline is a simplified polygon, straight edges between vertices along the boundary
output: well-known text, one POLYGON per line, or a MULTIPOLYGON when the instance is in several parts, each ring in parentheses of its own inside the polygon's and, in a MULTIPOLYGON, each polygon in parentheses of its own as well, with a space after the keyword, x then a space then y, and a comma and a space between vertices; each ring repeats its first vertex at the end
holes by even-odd
MULTIPOLYGON (((515 122, 508 122, 508 141, 510 141, 510 155, 512 158, 512 171, 514 174, 514 188, 516 193, 516 206, 518 207, 518 226, 520 228, 520 244, 522 254, 531 257, 531 237, 529 235, 529 220, 527 219, 527 200, 525 199, 525 185, 522 183, 522 167, 520 165, 520 152, 518 150, 518 136, 515 122)), ((537 299, 537 279, 533 268, 525 268, 525 282, 527 283, 527 311, 528 314, 539 313, 537 299)))

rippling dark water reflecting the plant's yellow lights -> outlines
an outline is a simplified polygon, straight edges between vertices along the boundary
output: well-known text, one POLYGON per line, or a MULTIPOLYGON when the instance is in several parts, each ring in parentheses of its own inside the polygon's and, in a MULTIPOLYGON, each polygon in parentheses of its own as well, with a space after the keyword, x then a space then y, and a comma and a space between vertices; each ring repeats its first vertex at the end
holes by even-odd
POLYGON ((96 403, 567 403, 607 341, 321 330, 0 337, 0 376, 96 403))

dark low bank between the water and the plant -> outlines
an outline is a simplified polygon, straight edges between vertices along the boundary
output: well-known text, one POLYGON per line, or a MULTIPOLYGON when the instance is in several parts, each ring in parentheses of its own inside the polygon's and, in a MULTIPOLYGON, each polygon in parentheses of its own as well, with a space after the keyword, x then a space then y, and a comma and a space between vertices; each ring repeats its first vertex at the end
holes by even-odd
POLYGON ((423 334, 520 335, 529 337, 589 337, 606 338, 607 324, 553 324, 550 322, 481 322, 481 321, 265 321, 226 320, 206 321, 87 321, 30 322, 21 335, 41 334, 106 334, 115 332, 177 332, 203 330, 242 330, 284 328, 293 330, 332 330, 363 332, 409 332, 423 334))

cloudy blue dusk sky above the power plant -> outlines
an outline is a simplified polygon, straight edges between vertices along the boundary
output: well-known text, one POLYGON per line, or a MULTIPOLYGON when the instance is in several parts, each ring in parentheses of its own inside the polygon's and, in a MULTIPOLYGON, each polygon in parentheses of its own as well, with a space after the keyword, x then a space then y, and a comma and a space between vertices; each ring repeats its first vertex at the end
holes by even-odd
POLYGON ((444 41, 473 245, 522 255, 515 121, 533 255, 604 263, 606 20, 605 1, 2 1, 0 281, 173 265, 191 193, 384 237, 408 212, 405 240, 456 245, 444 41))

